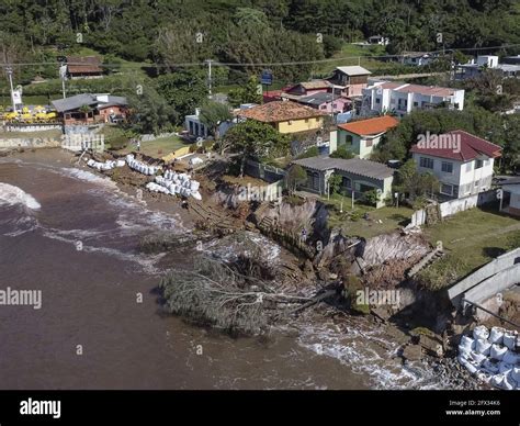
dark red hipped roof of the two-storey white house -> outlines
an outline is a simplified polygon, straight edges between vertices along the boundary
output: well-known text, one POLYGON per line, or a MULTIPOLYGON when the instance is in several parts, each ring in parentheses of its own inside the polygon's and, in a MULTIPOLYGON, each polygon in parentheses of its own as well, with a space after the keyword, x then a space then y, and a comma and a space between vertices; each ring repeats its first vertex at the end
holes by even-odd
POLYGON ((426 154, 433 157, 449 158, 459 161, 471 161, 481 155, 486 155, 489 158, 497 158, 501 156, 501 147, 490 142, 483 139, 482 137, 472 135, 464 131, 452 131, 445 134, 460 135, 460 149, 453 147, 420 147, 417 144, 410 149, 411 153, 426 154), (457 150, 457 152, 455 152, 457 150))

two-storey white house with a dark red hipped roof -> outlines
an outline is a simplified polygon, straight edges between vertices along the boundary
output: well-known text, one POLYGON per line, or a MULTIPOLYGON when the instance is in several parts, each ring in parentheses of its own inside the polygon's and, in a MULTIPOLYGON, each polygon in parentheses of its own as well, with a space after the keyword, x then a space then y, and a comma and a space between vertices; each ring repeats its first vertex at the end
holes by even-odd
POLYGON ((491 188, 493 165, 501 147, 464 131, 421 135, 410 149, 420 172, 432 172, 439 192, 460 199, 491 188))

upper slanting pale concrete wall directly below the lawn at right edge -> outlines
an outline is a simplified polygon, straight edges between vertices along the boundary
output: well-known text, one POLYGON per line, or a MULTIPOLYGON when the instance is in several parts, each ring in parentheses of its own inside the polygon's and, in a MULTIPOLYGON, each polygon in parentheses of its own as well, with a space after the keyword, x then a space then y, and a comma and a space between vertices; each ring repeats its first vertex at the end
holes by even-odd
MULTIPOLYGON (((501 256, 498 256, 489 264, 484 265, 475 272, 459 281, 455 285, 451 287, 448 290, 448 296, 455 306, 459 306, 463 298, 463 293, 468 292, 470 289, 479 284, 484 280, 494 277, 495 274, 498 274, 499 272, 511 268, 512 266, 518 264, 520 264, 520 247, 516 248, 515 250, 508 251, 501 256)), ((517 281, 520 281, 520 273, 517 277, 517 281)))

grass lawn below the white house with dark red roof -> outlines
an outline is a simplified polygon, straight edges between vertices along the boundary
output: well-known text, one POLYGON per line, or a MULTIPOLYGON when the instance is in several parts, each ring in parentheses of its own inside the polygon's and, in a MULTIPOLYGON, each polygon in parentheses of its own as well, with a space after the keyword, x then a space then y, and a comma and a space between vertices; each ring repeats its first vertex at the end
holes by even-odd
POLYGON ((463 277, 511 249, 512 237, 520 237, 520 221, 497 210, 472 209, 457 213, 425 227, 425 236, 432 245, 442 242, 446 257, 459 265, 459 274, 463 277))

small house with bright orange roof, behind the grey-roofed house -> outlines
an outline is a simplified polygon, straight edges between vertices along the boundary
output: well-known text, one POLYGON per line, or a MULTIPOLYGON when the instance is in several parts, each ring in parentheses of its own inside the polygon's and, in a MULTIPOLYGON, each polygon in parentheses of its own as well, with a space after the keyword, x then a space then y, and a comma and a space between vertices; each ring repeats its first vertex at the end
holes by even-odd
MULTIPOLYGON (((338 125, 337 145, 346 146, 359 158, 369 158, 383 135, 399 124, 392 115, 376 116, 338 125)), ((331 147, 331 152, 336 147, 331 147)))

